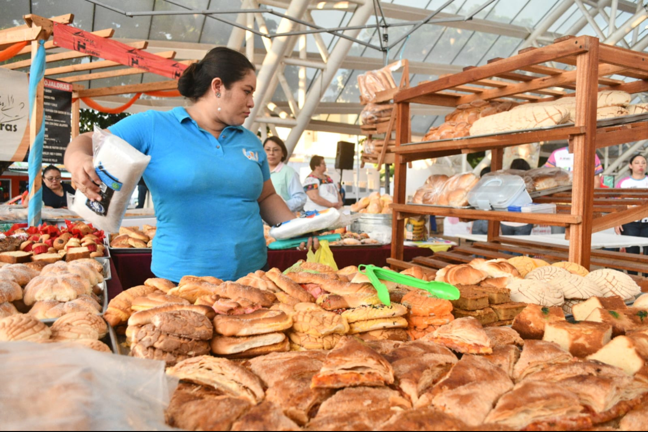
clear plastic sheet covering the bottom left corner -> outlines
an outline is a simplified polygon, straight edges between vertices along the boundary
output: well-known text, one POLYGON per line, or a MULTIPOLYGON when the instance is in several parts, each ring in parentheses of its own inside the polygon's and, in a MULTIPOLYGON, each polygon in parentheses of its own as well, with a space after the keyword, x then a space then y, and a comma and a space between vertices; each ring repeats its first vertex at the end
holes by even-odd
POLYGON ((175 430, 164 410, 178 380, 162 361, 6 342, 0 364, 1 430, 175 430))

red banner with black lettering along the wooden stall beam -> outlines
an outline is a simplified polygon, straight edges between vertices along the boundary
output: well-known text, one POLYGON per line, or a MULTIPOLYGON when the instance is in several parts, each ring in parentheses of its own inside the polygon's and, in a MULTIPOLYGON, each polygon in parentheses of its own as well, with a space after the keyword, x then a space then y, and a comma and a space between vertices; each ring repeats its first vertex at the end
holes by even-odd
POLYGON ((102 38, 80 28, 54 23, 54 45, 178 80, 187 65, 102 38))

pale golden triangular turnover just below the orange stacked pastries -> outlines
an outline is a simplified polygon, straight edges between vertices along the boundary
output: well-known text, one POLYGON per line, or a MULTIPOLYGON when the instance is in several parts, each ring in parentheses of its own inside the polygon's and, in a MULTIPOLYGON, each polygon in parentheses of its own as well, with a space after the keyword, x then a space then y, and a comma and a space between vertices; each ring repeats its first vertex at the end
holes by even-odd
POLYGON ((458 318, 449 324, 437 328, 432 334, 423 337, 423 340, 432 341, 466 354, 490 354, 492 352, 491 340, 473 317, 458 318))

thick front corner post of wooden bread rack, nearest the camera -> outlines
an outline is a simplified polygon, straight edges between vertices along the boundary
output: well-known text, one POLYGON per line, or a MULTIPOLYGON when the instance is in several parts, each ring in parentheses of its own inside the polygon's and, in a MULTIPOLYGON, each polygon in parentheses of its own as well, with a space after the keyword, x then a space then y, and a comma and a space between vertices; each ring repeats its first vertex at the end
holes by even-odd
POLYGON ((578 38, 587 51, 576 56, 575 126, 585 132, 573 137, 572 214, 582 215, 583 222, 570 226, 569 260, 590 268, 592 245, 592 214, 594 204, 594 154, 596 152, 596 100, 598 88, 599 40, 589 36, 578 38))

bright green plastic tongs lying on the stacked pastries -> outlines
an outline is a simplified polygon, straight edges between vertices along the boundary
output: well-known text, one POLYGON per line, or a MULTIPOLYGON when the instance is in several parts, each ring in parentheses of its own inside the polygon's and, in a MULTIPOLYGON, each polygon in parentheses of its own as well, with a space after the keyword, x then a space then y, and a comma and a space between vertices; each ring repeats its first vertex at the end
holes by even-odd
POLYGON ((380 282, 380 279, 389 280, 390 282, 395 282, 397 284, 413 286, 414 288, 420 288, 421 290, 428 291, 428 293, 439 299, 459 299, 459 290, 446 282, 436 282, 435 280, 427 282, 409 275, 402 275, 393 270, 376 267, 371 264, 360 264, 360 266, 358 266, 358 271, 363 275, 367 275, 369 282, 371 282, 373 287, 376 288, 376 291, 378 291, 378 299, 387 306, 391 304, 391 301, 389 301, 389 291, 385 284, 380 282), (362 269, 364 269, 364 271, 362 269))

